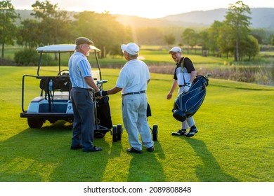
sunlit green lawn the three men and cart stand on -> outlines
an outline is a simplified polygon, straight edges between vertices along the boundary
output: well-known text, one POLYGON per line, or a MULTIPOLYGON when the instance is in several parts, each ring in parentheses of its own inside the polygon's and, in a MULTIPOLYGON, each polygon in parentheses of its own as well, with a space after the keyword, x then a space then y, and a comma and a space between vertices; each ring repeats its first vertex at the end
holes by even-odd
MULTIPOLYGON (((195 114, 199 132, 193 138, 173 137, 180 122, 172 117, 176 98, 167 100, 171 75, 151 74, 148 101, 150 126, 158 125, 155 152, 126 153, 126 130, 122 141, 112 143, 107 133, 95 139, 98 153, 71 151, 72 125, 58 121, 30 129, 20 118, 21 83, 24 73, 36 67, 0 67, 0 181, 274 181, 274 87, 211 78, 207 96, 195 114)), ((44 68, 54 73, 56 67, 44 68)), ((57 73, 56 73, 57 74, 57 73)), ((119 69, 102 69, 115 86, 119 69)), ((39 95, 36 79, 28 79, 26 99, 39 95)), ((112 123, 122 123, 121 97, 110 95, 112 123)), ((26 100, 26 103, 30 100, 26 100)), ((27 106, 25 106, 27 107, 27 106)))

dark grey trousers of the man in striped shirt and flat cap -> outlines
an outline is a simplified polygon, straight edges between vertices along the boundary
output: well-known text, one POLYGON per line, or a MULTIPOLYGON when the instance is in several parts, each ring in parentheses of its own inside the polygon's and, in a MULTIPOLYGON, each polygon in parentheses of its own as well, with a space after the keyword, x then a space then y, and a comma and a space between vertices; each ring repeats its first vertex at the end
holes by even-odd
POLYGON ((72 87, 72 108, 74 114, 72 146, 83 146, 83 150, 93 148, 94 106, 92 92, 72 87))

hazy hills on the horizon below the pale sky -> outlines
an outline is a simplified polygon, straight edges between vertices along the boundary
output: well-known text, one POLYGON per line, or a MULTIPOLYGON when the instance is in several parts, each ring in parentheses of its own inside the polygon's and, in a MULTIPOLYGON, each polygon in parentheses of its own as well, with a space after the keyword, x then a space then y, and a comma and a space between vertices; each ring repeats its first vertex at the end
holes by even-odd
MULTIPOLYGON (((250 8, 252 28, 274 29, 274 8, 250 8)), ((226 8, 197 10, 164 18, 148 19, 129 15, 116 15, 117 21, 133 27, 209 27, 215 20, 225 20, 226 8)))

